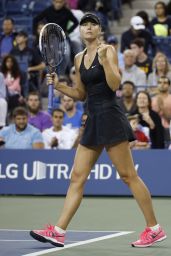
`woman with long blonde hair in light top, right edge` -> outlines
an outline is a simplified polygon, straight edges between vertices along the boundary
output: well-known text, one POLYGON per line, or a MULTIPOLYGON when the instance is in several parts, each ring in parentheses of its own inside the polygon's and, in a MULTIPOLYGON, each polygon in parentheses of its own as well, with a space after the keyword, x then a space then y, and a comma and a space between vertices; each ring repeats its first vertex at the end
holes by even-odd
POLYGON ((166 76, 171 80, 170 64, 161 52, 158 52, 153 59, 153 72, 149 74, 147 84, 149 86, 157 86, 157 81, 161 76, 166 76))

